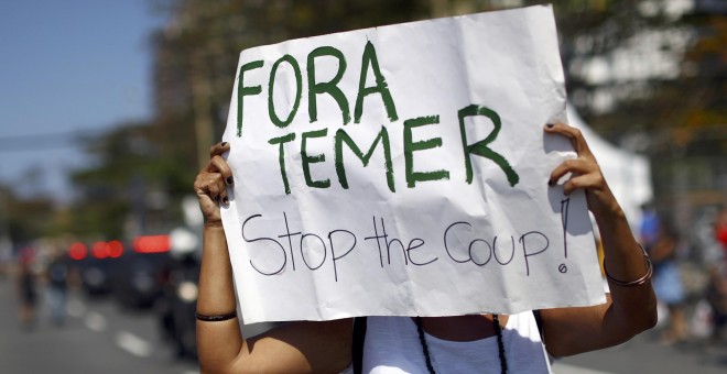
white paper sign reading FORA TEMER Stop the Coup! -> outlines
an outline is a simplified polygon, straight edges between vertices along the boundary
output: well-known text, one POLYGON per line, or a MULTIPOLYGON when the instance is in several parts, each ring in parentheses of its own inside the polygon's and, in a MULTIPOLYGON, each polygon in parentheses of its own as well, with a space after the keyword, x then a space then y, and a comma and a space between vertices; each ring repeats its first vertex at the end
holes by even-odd
POLYGON ((230 107, 246 323, 605 301, 550 7, 250 48, 230 107))

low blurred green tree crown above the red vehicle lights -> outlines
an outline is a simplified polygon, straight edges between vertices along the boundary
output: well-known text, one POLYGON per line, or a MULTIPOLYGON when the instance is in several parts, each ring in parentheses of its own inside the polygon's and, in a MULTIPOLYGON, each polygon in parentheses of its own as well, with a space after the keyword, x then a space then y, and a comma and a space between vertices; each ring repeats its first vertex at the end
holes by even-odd
POLYGON ((76 170, 72 180, 83 199, 70 207, 68 232, 120 239, 164 232, 178 223, 183 167, 161 153, 156 128, 130 123, 85 140, 95 163, 76 170))

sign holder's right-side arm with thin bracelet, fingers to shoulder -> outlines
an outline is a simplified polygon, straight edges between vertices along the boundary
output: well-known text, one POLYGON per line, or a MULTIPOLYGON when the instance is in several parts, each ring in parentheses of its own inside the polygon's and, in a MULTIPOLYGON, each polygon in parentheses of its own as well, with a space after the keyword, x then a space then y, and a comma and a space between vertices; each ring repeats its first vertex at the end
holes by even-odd
POLYGON ((585 189, 588 209, 600 232, 610 288, 605 305, 542 311, 545 346, 552 355, 564 356, 620 344, 652 328, 657 300, 650 282, 651 264, 583 134, 563 123, 546 125, 545 133, 567 136, 578 154, 553 170, 549 185, 571 173, 564 193, 585 189))

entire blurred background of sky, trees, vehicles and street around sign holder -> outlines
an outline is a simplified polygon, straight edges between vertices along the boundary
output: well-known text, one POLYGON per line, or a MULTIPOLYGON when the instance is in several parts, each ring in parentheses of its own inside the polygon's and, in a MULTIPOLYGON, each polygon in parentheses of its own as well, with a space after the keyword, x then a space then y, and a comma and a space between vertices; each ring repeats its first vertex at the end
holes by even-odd
MULTIPOLYGON (((572 119, 665 279, 655 330, 555 367, 724 372, 727 0, 551 2, 572 119)), ((198 372, 192 183, 241 50, 538 3, 0 2, 0 372, 198 372)))

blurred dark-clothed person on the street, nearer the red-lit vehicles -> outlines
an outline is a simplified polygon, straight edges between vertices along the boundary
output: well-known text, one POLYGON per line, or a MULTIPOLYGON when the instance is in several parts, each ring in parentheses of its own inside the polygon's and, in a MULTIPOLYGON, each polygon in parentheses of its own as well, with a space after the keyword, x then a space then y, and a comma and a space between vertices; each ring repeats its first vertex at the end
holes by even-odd
POLYGON ((47 295, 51 307, 51 319, 54 324, 62 326, 66 319, 66 299, 70 266, 63 250, 54 249, 51 262, 46 268, 47 295))

